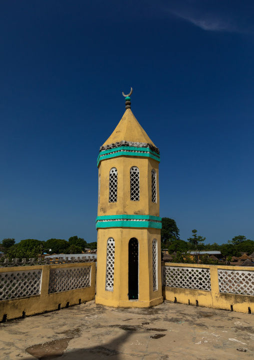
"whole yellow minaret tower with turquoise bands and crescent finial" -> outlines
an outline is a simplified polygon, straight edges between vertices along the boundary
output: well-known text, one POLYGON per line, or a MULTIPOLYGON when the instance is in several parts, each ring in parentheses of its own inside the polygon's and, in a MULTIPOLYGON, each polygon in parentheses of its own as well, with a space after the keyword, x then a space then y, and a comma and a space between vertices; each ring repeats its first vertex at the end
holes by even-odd
POLYGON ((159 150, 130 110, 100 147, 96 304, 149 307, 162 302, 159 150))

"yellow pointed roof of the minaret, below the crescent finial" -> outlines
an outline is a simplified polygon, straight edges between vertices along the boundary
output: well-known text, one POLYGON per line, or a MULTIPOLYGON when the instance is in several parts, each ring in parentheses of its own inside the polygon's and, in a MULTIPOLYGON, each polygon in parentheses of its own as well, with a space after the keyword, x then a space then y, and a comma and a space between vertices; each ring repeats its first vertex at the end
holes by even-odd
POLYGON ((126 109, 120 122, 102 146, 120 142, 122 140, 145 142, 155 146, 130 109, 126 109))

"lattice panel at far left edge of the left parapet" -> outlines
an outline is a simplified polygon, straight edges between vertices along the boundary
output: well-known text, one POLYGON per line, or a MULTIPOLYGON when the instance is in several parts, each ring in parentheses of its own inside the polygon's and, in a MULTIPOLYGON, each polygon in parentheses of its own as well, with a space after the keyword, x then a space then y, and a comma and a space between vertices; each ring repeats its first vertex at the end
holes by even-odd
POLYGON ((0 300, 39 295, 41 269, 0 273, 0 300))

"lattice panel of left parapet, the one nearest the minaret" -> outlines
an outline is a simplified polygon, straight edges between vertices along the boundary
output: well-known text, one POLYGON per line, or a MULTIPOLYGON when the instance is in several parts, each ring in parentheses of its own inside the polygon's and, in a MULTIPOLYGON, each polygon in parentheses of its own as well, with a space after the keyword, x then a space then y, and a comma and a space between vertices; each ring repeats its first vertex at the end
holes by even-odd
POLYGON ((48 294, 91 286, 90 274, 90 266, 51 269, 49 271, 48 294))

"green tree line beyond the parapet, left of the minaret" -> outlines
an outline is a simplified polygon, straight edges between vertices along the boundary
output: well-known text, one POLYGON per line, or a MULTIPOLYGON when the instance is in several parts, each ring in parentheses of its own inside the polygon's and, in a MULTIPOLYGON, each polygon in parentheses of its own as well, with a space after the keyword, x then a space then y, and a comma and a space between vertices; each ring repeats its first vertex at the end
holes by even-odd
POLYGON ((25 239, 15 243, 15 239, 3 239, 0 242, 0 251, 9 259, 37 258, 39 254, 81 254, 85 248, 97 248, 97 242, 86 243, 83 238, 71 236, 68 241, 63 239, 48 239, 40 241, 25 239), (51 251, 49 251, 51 249, 51 251))

